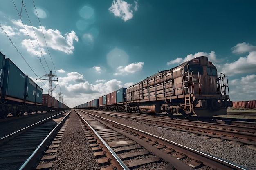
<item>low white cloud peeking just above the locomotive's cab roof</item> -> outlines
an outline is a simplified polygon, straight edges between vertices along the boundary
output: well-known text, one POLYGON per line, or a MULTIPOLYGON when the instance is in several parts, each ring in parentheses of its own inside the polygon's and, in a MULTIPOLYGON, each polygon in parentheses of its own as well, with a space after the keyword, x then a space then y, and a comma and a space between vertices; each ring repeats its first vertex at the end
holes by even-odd
POLYGON ((170 62, 167 62, 167 65, 171 65, 171 64, 180 64, 180 63, 183 63, 183 62, 186 62, 188 60, 191 60, 195 57, 200 57, 200 56, 207 56, 208 57, 208 60, 213 62, 214 63, 219 63, 219 62, 222 62, 221 59, 217 59, 216 58, 216 54, 214 51, 211 51, 211 53, 205 53, 205 52, 198 52, 198 53, 195 53, 194 55, 192 54, 189 54, 187 55, 184 59, 182 58, 176 58, 175 60, 171 60, 170 62))

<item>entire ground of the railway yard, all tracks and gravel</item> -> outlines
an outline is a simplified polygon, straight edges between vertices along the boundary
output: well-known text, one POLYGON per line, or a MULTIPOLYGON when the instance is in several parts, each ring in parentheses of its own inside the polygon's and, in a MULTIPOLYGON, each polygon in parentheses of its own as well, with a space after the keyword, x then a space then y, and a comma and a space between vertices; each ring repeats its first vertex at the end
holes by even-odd
POLYGON ((1 170, 256 169, 254 115, 184 119, 81 109, 53 115, 0 120, 1 170))

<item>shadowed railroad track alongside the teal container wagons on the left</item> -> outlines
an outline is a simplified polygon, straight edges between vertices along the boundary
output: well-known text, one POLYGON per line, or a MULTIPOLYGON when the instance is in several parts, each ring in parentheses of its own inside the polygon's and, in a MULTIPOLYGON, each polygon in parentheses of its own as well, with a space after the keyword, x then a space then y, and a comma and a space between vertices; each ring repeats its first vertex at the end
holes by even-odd
POLYGON ((0 169, 26 170, 38 163, 69 113, 62 112, 0 138, 0 169))

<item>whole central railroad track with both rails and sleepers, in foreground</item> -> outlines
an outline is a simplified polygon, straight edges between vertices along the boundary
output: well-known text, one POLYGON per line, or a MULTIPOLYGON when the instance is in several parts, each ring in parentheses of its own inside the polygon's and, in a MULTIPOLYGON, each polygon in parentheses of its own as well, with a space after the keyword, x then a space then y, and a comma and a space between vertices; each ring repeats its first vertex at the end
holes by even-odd
POLYGON ((86 136, 99 164, 106 169, 218 170, 246 169, 234 163, 191 149, 117 122, 76 111, 87 128, 86 136), (80 113, 80 114, 79 114, 80 113))

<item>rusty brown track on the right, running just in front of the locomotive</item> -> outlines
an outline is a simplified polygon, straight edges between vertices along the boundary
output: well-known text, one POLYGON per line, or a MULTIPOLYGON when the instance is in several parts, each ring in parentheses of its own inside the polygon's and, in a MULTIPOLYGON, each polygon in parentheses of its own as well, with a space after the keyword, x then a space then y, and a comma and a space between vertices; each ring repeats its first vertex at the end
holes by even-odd
POLYGON ((140 123, 159 126, 163 128, 170 128, 173 130, 180 130, 184 132, 196 133, 198 135, 205 135, 220 140, 232 141, 235 145, 256 145, 256 123, 255 122, 234 122, 234 125, 228 122, 211 123, 202 121, 189 121, 183 119, 165 119, 157 118, 151 119, 148 117, 131 117, 123 115, 113 115, 113 113, 94 111, 95 113, 104 113, 104 115, 118 117, 137 121, 140 123))

